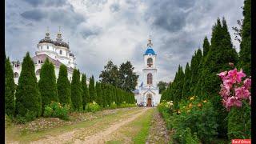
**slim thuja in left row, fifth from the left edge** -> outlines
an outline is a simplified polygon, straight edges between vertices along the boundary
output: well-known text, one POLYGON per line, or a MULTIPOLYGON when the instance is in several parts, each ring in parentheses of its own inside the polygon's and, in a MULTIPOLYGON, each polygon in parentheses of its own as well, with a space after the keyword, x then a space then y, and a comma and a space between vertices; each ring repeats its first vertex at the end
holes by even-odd
POLYGON ((80 72, 74 69, 71 82, 71 100, 74 110, 82 110, 82 85, 80 82, 80 72))

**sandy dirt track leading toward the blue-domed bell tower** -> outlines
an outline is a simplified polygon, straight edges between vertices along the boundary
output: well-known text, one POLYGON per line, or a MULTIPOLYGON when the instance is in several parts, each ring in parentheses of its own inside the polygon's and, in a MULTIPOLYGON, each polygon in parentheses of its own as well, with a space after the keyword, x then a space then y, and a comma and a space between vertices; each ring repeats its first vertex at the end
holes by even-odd
POLYGON ((150 108, 140 108, 117 115, 114 118, 104 118, 105 122, 98 121, 94 125, 71 130, 58 135, 46 135, 32 143, 104 143, 110 140, 110 135, 120 127, 133 122, 134 119, 146 113, 150 108))

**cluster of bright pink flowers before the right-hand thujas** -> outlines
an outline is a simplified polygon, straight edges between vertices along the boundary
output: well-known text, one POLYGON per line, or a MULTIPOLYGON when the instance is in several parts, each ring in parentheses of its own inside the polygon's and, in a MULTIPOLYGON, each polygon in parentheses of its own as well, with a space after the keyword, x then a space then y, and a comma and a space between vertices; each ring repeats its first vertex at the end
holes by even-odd
POLYGON ((221 72, 218 76, 222 78, 219 94, 222 96, 222 105, 227 110, 230 110, 232 106, 242 107, 242 100, 249 100, 249 104, 251 103, 251 79, 246 78, 242 82, 242 78, 246 77, 242 69, 238 71, 234 68, 234 70, 228 72, 221 72))

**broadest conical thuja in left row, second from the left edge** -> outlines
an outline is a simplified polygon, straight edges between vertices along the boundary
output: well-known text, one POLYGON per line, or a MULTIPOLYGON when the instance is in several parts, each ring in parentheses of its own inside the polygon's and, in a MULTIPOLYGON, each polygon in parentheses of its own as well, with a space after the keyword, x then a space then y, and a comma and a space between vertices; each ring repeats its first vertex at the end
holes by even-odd
POLYGON ((42 100, 34 74, 34 62, 29 53, 26 53, 22 62, 22 71, 18 78, 15 97, 16 116, 25 117, 27 121, 30 121, 42 114, 42 100))

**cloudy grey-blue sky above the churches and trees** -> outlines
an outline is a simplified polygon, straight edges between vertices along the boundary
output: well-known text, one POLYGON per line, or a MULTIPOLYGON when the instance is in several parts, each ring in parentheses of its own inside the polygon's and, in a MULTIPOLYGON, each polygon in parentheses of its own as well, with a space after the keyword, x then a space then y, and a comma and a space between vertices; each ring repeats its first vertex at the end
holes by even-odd
POLYGON ((151 35, 157 79, 173 81, 178 65, 185 68, 194 51, 202 49, 203 38, 210 40, 217 18, 226 18, 239 50, 232 26, 242 19, 243 0, 8 0, 5 6, 10 60, 22 61, 27 51, 34 56, 47 26, 52 39, 60 26, 78 69, 96 80, 111 60, 118 66, 130 61, 142 81, 143 54, 151 35))

